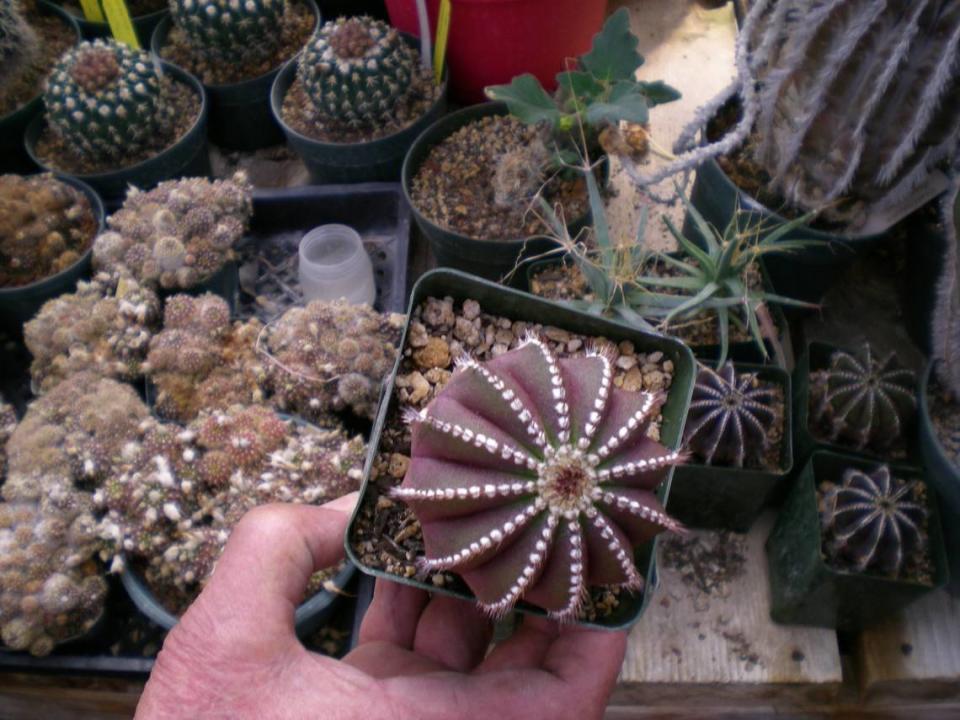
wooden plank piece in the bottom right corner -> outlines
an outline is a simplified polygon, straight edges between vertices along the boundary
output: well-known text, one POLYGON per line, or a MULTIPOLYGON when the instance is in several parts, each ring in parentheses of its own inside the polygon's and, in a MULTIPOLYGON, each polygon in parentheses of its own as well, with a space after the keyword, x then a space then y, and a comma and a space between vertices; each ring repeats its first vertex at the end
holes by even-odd
POLYGON ((856 643, 871 702, 960 699, 960 600, 938 590, 856 643))

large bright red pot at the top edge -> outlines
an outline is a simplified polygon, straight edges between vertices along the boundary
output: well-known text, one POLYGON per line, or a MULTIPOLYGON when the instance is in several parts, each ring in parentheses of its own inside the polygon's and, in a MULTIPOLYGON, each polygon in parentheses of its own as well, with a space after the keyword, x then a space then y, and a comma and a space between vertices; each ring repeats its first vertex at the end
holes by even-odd
MULTIPOLYGON (((415 0, 386 0, 390 22, 420 34, 415 0)), ((436 32, 440 0, 427 0, 436 32)), ((483 88, 533 73, 548 90, 564 61, 590 49, 607 0, 452 0, 447 63, 450 92, 461 103, 485 100, 483 88)))

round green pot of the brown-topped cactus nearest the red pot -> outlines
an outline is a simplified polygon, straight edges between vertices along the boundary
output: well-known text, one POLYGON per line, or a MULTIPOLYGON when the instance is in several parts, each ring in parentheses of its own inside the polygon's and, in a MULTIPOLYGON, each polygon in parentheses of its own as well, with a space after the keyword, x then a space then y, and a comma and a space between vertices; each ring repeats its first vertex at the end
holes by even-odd
MULTIPOLYGON (((419 41, 402 33, 411 47, 420 47, 419 41)), ((315 185, 324 183, 396 182, 400 177, 404 157, 413 141, 447 109, 447 81, 444 75, 440 97, 419 119, 393 135, 368 142, 332 143, 315 140, 297 132, 283 121, 283 99, 297 74, 294 58, 280 70, 270 91, 273 117, 287 136, 293 149, 310 172, 315 185)))

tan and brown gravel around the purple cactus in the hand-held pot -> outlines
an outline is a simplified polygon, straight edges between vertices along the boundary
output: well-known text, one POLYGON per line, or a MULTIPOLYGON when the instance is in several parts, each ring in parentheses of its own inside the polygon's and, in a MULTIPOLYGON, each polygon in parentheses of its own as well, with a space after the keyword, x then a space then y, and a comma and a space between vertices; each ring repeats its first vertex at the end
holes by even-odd
MULTIPOLYGON (((467 300, 455 305, 451 298, 430 298, 414 310, 413 321, 403 349, 391 407, 380 438, 378 454, 370 476, 372 486, 364 495, 359 520, 351 543, 361 561, 373 568, 400 577, 417 574, 414 561, 423 554, 420 525, 405 505, 386 496, 386 490, 400 484, 410 455, 409 428, 400 419, 403 407, 422 408, 439 392, 452 372, 453 359, 462 353, 485 361, 516 347, 528 330, 547 340, 558 357, 582 354, 588 342, 608 344, 614 351, 614 385, 628 391, 667 390, 673 381, 673 362, 663 353, 637 353, 630 342, 618 345, 604 338, 592 338, 535 323, 511 321, 482 312, 479 303, 467 300), (439 353, 443 344, 447 359, 439 353), (429 349, 429 352, 424 352, 429 349)), ((651 423, 649 436, 660 437, 661 418, 651 423)), ((469 593, 453 573, 427 577, 437 587, 469 593)), ((594 588, 581 619, 593 621, 609 615, 619 603, 619 591, 594 588)))

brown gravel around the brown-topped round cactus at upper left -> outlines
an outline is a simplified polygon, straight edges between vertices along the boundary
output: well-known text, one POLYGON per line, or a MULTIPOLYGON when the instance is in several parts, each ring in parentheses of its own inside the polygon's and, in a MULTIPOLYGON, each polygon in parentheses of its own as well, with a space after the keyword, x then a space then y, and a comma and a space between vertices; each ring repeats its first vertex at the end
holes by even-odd
POLYGON ((193 88, 186 83, 164 77, 161 81, 162 92, 167 95, 168 102, 174 107, 173 123, 161 129, 152 139, 149 147, 143 151, 129 155, 122 166, 115 166, 110 162, 92 162, 77 155, 73 148, 51 132, 50 127, 44 128, 37 140, 36 152, 40 159, 53 170, 75 174, 90 174, 122 170, 141 163, 167 148, 176 144, 187 131, 193 127, 200 114, 200 97, 193 88))

